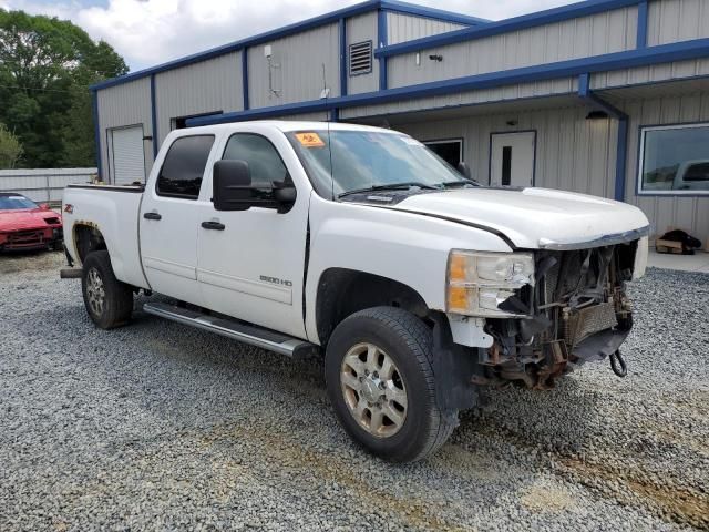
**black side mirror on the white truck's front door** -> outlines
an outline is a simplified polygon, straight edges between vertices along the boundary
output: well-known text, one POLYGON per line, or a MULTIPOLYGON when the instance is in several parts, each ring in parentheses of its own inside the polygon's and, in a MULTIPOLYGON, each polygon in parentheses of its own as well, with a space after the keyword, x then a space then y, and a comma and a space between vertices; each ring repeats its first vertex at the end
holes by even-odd
POLYGON ((217 161, 212 181, 216 211, 248 211, 254 204, 251 173, 246 161, 217 161))

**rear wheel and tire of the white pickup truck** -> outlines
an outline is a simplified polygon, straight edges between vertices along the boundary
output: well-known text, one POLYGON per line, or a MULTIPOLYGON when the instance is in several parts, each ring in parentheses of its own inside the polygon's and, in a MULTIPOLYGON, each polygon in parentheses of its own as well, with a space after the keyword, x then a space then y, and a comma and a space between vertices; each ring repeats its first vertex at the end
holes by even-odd
POLYGON ((102 329, 125 325, 133 313, 133 289, 115 278, 105 249, 89 254, 83 265, 81 289, 86 313, 102 329))

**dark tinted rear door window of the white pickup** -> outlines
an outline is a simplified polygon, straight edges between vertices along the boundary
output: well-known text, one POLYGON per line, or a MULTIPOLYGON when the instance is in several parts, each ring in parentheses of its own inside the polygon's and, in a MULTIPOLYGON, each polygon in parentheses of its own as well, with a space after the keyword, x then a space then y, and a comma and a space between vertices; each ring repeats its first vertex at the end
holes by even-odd
POLYGON ((214 135, 182 136, 173 142, 157 176, 158 196, 197 200, 214 135))

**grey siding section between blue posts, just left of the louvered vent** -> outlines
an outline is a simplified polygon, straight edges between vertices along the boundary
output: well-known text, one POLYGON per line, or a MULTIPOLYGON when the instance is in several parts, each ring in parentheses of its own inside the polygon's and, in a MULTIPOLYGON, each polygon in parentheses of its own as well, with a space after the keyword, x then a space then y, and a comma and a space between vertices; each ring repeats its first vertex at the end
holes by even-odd
POLYGON ((251 108, 282 105, 285 103, 318 100, 326 85, 330 95, 340 93, 339 31, 338 24, 328 24, 297 35, 278 39, 270 43, 274 68, 273 94, 268 86, 268 61, 264 45, 248 50, 248 91, 251 108))

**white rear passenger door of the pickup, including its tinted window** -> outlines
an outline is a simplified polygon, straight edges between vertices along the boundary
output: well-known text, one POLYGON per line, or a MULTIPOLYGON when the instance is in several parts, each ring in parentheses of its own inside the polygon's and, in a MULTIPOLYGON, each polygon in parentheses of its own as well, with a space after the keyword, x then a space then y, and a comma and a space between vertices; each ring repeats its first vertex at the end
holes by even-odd
MULTIPOLYGON (((175 139, 141 206, 140 239, 151 288, 202 305, 197 285, 197 236, 202 182, 212 175, 214 135, 175 139)), ((208 200, 208 198, 207 198, 208 200)), ((210 203, 209 203, 210 205, 210 203)))

